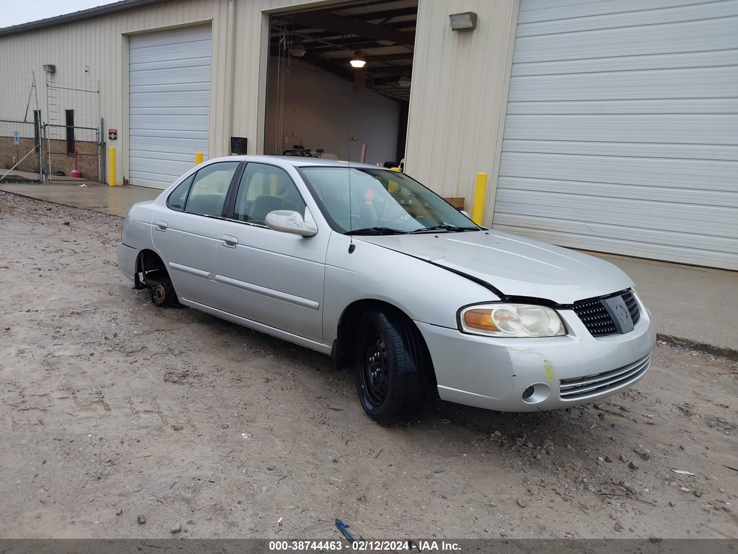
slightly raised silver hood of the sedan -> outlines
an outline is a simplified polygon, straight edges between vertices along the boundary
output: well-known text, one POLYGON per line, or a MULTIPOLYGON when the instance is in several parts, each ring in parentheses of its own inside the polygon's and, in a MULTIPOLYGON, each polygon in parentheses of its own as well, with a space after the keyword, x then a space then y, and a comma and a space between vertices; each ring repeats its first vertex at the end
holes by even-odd
POLYGON ((633 286, 630 277, 607 261, 494 230, 354 239, 466 273, 507 296, 572 304, 633 286))

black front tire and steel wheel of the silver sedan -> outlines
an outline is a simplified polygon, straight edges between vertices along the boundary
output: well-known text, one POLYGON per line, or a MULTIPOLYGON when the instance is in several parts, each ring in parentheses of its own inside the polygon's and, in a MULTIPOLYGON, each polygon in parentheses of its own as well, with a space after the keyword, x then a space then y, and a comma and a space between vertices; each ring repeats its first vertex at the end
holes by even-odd
POLYGON ((354 372, 359 401, 379 425, 418 417, 427 392, 430 356, 415 326, 393 312, 371 310, 356 327, 354 372))

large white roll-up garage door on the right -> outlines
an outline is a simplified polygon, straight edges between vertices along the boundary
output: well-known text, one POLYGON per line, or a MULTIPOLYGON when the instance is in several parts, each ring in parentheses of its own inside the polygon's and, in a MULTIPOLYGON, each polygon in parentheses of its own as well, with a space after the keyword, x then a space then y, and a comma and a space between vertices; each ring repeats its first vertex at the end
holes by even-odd
POLYGON ((738 1, 520 0, 494 228, 738 270, 738 1))

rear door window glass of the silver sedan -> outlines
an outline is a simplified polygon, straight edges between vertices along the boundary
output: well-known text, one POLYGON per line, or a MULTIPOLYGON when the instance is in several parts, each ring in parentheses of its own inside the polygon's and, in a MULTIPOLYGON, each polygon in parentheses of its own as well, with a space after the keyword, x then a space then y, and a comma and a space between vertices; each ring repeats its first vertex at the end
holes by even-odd
POLYGON ((213 163, 184 179, 169 195, 168 207, 204 216, 220 216, 228 186, 238 164, 239 162, 213 163))

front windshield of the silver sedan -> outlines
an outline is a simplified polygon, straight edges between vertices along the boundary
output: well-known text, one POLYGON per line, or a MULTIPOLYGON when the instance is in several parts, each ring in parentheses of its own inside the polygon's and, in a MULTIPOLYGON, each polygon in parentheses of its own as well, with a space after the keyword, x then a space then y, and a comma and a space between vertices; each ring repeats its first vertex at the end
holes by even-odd
POLYGON ((343 233, 480 230, 441 196, 399 171, 311 167, 302 173, 343 233))

